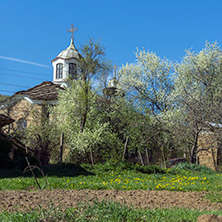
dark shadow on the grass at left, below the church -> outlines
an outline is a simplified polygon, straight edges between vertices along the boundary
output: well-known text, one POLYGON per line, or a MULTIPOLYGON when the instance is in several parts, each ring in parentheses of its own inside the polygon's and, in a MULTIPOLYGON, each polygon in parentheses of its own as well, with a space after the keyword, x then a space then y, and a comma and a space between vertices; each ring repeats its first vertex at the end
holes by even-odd
MULTIPOLYGON (((63 164, 62 168, 58 165, 48 165, 42 167, 41 170, 46 176, 55 176, 55 177, 76 177, 76 176, 89 176, 95 175, 90 171, 87 171, 85 168, 78 164, 68 163, 63 164)), ((36 177, 42 177, 42 174, 39 170, 34 169, 36 177)), ((30 171, 23 173, 23 170, 20 169, 1 169, 0 168, 0 178, 12 178, 12 177, 32 177, 30 171)))

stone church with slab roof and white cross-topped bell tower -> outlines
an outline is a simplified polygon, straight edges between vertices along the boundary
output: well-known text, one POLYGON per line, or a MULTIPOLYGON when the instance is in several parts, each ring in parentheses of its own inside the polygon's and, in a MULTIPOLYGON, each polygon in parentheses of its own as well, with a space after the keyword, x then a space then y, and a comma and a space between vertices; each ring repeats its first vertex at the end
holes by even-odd
POLYGON ((46 106, 55 105, 58 102, 58 91, 64 90, 65 81, 68 77, 77 79, 81 74, 79 65, 82 55, 74 45, 73 32, 71 43, 68 48, 58 54, 52 60, 53 81, 44 81, 28 90, 16 92, 10 98, 0 102, 0 113, 14 119, 10 130, 26 128, 32 122, 31 111, 38 109, 42 115, 46 115, 46 106))

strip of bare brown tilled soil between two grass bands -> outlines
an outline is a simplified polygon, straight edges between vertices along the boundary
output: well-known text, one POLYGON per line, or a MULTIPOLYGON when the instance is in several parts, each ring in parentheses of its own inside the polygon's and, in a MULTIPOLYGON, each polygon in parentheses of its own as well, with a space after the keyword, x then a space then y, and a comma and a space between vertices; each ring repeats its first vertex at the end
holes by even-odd
POLYGON ((173 192, 145 190, 41 190, 41 191, 0 191, 0 211, 27 211, 47 209, 50 205, 62 209, 76 207, 78 202, 109 200, 134 205, 139 208, 185 207, 198 210, 219 210, 221 203, 205 199, 206 192, 173 192))

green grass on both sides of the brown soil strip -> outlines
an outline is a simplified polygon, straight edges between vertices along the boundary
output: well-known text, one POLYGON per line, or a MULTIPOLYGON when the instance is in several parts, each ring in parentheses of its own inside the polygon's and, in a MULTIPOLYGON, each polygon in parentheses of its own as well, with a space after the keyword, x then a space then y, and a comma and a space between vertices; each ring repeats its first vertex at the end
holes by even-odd
MULTIPOLYGON (((98 165, 65 164, 63 168, 43 168, 46 178, 35 170, 42 189, 118 189, 118 190, 170 190, 210 191, 209 199, 222 202, 220 195, 222 174, 197 165, 183 164, 170 169, 157 166, 142 167, 121 163, 98 165)), ((0 170, 0 190, 38 189, 30 172, 0 170)), ((51 206, 47 211, 38 209, 28 213, 1 212, 0 221, 196 221, 207 212, 189 209, 142 210, 118 203, 95 202, 80 204, 75 209, 51 206)))

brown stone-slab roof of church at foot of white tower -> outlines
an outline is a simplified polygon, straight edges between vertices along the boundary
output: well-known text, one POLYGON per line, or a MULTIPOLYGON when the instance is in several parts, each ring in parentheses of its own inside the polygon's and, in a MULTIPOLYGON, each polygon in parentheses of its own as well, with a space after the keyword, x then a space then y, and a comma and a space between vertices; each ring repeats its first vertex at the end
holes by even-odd
POLYGON ((45 81, 28 90, 18 91, 13 96, 26 96, 32 100, 58 100, 59 90, 64 90, 64 88, 51 81, 45 81))

